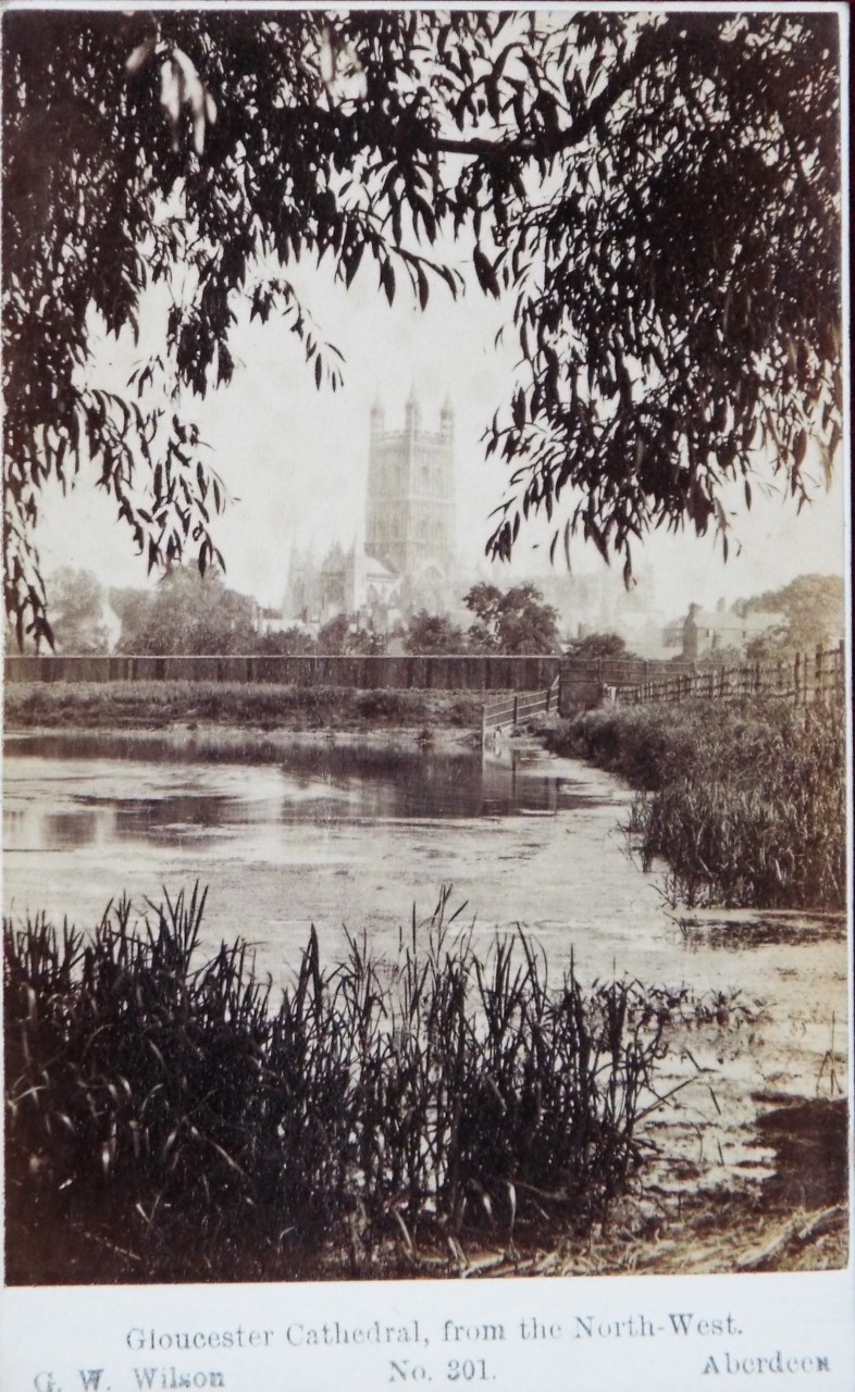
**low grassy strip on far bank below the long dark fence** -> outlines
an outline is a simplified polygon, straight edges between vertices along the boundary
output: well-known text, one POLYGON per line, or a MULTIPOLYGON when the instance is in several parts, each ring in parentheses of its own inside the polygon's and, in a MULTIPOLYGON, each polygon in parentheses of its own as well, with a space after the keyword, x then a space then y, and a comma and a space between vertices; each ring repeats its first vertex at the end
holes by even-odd
POLYGON ((10 682, 8 729, 152 728, 480 728, 479 692, 354 690, 238 682, 10 682))

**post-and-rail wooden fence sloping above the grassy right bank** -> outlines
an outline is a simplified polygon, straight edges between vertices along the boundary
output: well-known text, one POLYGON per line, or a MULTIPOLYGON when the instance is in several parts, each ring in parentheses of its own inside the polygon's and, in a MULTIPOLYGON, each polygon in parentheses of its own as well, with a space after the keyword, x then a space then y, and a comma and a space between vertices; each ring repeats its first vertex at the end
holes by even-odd
POLYGON ((739 667, 706 667, 680 671, 656 681, 607 688, 607 699, 620 706, 646 702, 678 702, 688 697, 737 700, 742 696, 780 696, 808 703, 823 696, 845 695, 844 644, 797 653, 777 663, 744 663, 739 667))

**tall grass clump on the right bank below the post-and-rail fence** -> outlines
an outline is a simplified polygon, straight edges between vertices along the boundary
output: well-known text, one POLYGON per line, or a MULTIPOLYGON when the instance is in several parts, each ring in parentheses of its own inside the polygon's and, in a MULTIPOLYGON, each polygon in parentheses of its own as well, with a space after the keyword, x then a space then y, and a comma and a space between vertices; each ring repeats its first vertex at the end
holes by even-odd
POLYGON ((674 902, 845 906, 845 721, 838 704, 685 702, 592 711, 551 746, 639 789, 645 863, 674 902))

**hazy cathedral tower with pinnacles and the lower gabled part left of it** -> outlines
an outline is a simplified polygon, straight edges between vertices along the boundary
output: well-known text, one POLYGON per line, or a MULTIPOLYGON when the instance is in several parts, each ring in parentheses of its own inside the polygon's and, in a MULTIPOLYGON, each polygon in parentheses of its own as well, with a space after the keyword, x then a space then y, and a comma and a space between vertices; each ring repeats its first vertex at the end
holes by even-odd
POLYGON ((454 412, 448 401, 439 430, 422 426, 411 391, 404 429, 389 430, 383 406, 370 412, 365 544, 333 546, 317 564, 291 553, 285 614, 324 624, 354 614, 386 632, 416 610, 446 612, 455 587, 454 412))

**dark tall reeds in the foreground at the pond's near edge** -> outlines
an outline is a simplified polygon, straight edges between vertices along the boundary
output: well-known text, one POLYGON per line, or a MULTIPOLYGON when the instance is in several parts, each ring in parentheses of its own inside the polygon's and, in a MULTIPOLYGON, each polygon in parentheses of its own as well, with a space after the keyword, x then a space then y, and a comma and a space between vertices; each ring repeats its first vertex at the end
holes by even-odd
MULTIPOLYGON (((578 1229, 641 1164, 666 992, 478 956, 443 894, 394 959, 315 931, 274 1005, 205 895, 4 926, 7 1275, 370 1274, 578 1229), (57 1240, 61 1235, 61 1240, 57 1240)), ((671 1002, 673 1004, 673 1002, 671 1002)))

